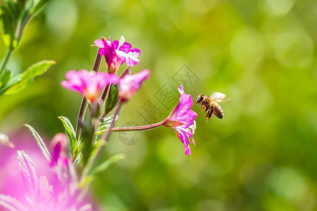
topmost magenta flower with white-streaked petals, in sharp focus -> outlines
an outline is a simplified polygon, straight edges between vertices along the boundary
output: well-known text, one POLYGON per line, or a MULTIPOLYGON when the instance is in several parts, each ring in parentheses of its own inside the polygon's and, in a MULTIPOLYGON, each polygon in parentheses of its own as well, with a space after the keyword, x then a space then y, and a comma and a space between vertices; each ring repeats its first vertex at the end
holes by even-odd
POLYGON ((125 38, 121 36, 120 40, 111 41, 106 38, 94 41, 94 46, 99 47, 99 54, 106 58, 108 72, 115 73, 119 66, 126 63, 129 67, 139 63, 138 57, 141 54, 139 49, 131 49, 130 43, 125 42, 125 38))

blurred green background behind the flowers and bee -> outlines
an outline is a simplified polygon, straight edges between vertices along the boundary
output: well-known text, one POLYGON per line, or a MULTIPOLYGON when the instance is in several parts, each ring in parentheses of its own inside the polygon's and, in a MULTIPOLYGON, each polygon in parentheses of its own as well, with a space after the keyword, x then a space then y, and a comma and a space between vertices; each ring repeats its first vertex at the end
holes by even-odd
POLYGON ((137 110, 148 100, 167 117, 155 94, 166 82, 178 88, 173 75, 183 65, 197 76, 187 93, 232 100, 211 122, 193 106, 189 157, 173 129, 143 132, 131 146, 112 134, 104 159, 127 158, 92 183, 101 210, 317 210, 316 26, 313 0, 54 0, 27 26, 8 67, 56 65, 20 94, 1 96, 1 132, 27 132, 27 123, 49 140, 63 132, 59 115, 75 124, 81 96, 61 87, 65 73, 92 68, 95 39, 123 35, 142 52, 132 72, 151 75, 118 125, 143 124, 137 110))

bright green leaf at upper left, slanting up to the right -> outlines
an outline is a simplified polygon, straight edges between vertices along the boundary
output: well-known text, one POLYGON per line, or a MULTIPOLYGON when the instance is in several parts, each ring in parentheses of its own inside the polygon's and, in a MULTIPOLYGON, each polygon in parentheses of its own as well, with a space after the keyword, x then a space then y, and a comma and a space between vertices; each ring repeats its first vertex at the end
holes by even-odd
POLYGON ((22 77, 20 77, 20 81, 13 84, 12 87, 10 87, 5 94, 15 94, 19 91, 22 91, 27 87, 28 84, 30 84, 33 79, 39 75, 42 75, 44 72, 46 72, 47 69, 56 62, 54 60, 42 60, 39 63, 35 63, 34 65, 31 65, 30 68, 27 68, 25 72, 22 73, 22 77))

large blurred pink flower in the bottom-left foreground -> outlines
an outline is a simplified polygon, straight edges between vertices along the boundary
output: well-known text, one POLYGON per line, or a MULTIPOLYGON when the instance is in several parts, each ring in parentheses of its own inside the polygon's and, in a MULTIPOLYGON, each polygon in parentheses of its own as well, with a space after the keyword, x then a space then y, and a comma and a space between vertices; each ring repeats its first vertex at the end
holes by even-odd
POLYGON ((0 194, 0 206, 15 211, 92 210, 91 205, 76 200, 77 179, 74 177, 74 170, 68 165, 68 160, 67 166, 58 167, 59 165, 61 164, 51 168, 53 179, 49 182, 45 176, 37 177, 31 158, 24 151, 18 151, 18 166, 26 200, 0 194))

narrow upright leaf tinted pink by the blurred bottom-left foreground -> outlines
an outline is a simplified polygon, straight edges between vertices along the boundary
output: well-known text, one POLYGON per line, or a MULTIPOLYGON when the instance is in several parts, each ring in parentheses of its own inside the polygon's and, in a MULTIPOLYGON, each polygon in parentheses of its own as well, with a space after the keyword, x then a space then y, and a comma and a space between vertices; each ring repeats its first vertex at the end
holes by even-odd
POLYGON ((27 199, 36 203, 39 181, 37 180, 34 163, 24 151, 18 151, 18 166, 27 199))

